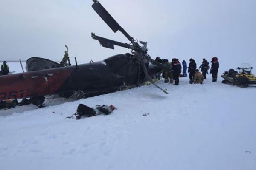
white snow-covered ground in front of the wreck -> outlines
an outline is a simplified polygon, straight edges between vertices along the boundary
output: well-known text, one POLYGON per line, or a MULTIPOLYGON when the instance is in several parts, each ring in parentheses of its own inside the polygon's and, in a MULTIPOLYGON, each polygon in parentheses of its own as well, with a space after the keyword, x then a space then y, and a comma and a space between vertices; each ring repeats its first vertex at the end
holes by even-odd
POLYGON ((256 88, 207 76, 204 85, 157 82, 169 94, 148 85, 1 110, 0 170, 255 170, 256 88), (118 110, 65 119, 80 103, 118 110))

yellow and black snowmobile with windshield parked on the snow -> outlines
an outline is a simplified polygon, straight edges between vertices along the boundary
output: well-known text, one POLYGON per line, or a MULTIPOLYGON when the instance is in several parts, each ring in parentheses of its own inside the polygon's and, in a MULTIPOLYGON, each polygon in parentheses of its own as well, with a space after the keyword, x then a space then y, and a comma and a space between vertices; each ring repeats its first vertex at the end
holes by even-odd
POLYGON ((230 85, 238 85, 240 87, 247 87, 248 85, 256 85, 256 77, 252 74, 252 67, 248 63, 243 63, 235 71, 230 69, 225 71, 221 77, 224 78, 222 83, 230 85))

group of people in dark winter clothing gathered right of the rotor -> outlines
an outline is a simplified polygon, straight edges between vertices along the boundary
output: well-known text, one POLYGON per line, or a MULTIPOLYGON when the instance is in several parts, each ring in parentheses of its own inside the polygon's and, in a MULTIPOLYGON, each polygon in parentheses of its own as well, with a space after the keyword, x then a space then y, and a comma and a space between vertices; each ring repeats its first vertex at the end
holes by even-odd
POLYGON ((168 83, 170 81, 171 84, 179 85, 179 77, 187 77, 187 71, 189 73, 189 83, 190 84, 203 84, 204 79, 206 79, 206 74, 208 74, 208 70, 210 69, 210 74, 212 74, 212 82, 217 81, 218 77, 218 68, 219 68, 219 62, 217 57, 212 58, 212 65, 209 66, 209 62, 206 59, 203 59, 202 64, 200 65, 199 69, 201 69, 199 72, 199 69, 197 69, 197 65, 194 59, 189 59, 189 67, 187 67, 186 61, 183 60, 182 66, 179 62, 179 59, 172 59, 172 62, 169 62, 168 59, 160 59, 159 57, 156 58, 157 62, 160 62, 165 67, 162 70, 163 74, 162 77, 164 77, 164 82, 168 83), (181 74, 182 71, 182 74, 181 74))

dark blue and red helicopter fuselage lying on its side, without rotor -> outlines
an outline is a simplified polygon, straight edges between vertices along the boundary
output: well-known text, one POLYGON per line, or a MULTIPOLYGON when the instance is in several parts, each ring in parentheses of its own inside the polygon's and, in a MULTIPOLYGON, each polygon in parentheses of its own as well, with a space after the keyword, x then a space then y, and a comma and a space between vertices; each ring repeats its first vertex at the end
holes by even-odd
MULTIPOLYGON (((83 91, 86 97, 115 92, 140 85, 145 80, 140 68, 128 54, 118 54, 99 62, 0 76, 0 100, 74 91, 83 91)), ((153 77, 159 69, 151 68, 153 77)))

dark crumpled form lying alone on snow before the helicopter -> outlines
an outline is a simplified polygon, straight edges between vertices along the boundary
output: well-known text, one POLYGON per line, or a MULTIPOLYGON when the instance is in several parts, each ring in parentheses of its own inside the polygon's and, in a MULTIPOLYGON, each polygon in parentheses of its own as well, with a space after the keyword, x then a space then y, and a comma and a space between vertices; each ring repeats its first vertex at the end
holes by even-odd
MULTIPOLYGON (((91 117, 91 116, 97 116, 100 114, 108 115, 115 110, 116 107, 113 105, 96 105, 93 108, 90 108, 86 105, 80 104, 77 109, 76 113, 73 114, 76 116, 76 119, 81 119, 82 117, 91 117)), ((73 118, 72 116, 67 117, 67 118, 73 118)))

